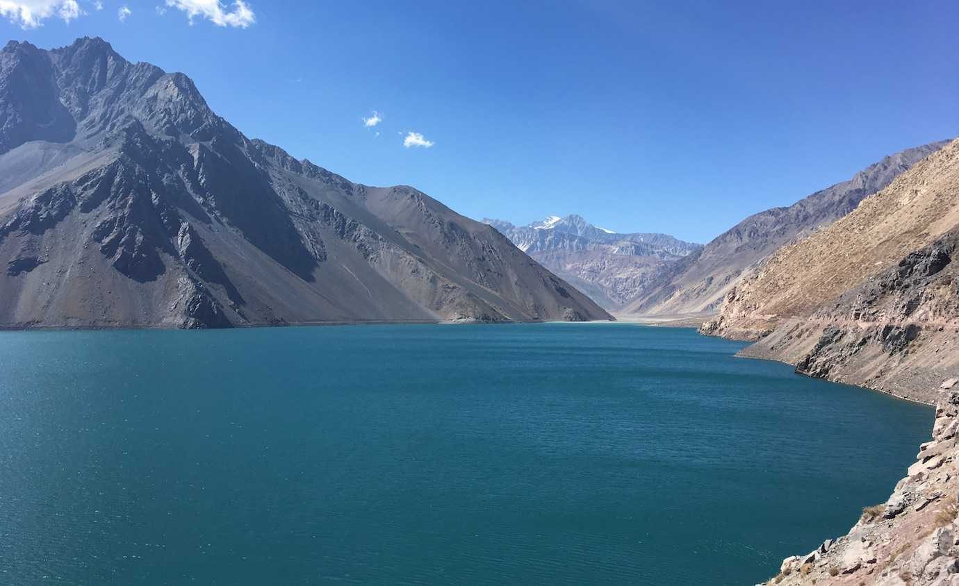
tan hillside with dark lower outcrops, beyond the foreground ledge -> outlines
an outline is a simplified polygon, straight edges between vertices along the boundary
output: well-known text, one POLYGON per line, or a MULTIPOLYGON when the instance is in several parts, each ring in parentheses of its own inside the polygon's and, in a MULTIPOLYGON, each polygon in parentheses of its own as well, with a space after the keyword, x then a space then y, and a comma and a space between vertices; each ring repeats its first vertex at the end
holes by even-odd
POLYGON ((957 243, 959 139, 765 260, 702 331, 760 340, 750 355, 800 372, 929 392, 959 372, 957 243))

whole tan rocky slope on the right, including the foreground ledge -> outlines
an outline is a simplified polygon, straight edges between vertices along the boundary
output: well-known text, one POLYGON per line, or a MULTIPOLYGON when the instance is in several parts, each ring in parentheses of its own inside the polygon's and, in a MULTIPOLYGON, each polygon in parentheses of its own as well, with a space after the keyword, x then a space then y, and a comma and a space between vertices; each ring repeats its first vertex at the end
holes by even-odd
POLYGON ((930 441, 885 503, 864 508, 846 535, 784 559, 769 584, 942 584, 955 575, 959 139, 763 260, 700 330, 756 340, 741 356, 936 406, 930 441))

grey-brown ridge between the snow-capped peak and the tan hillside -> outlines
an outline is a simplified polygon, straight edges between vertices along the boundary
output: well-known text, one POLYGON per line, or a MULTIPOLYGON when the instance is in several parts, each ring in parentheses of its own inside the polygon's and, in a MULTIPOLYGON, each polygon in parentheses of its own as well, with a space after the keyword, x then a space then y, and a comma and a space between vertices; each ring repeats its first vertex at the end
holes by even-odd
POLYGON ((676 262, 622 309, 623 314, 713 314, 726 294, 762 259, 852 212, 948 141, 903 150, 786 208, 753 214, 676 262))

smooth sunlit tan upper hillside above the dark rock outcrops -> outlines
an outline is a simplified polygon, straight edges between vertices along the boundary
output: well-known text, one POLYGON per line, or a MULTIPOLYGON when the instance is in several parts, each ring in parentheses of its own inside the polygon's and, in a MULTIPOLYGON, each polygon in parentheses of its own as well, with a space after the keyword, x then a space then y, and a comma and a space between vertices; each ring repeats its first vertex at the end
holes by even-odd
POLYGON ((957 225, 959 140, 864 199, 851 214, 772 255, 727 295, 719 316, 703 330, 759 339, 785 320, 812 316, 957 225))

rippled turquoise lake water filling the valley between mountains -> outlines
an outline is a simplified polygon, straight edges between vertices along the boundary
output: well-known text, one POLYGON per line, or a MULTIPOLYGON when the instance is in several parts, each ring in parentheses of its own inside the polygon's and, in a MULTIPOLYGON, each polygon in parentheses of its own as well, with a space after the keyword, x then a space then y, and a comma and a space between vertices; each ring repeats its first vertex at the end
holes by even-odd
POLYGON ((0 332, 0 583, 753 584, 930 408, 631 325, 0 332))

